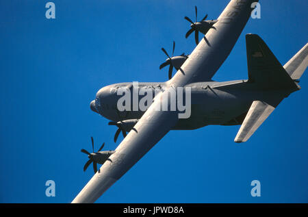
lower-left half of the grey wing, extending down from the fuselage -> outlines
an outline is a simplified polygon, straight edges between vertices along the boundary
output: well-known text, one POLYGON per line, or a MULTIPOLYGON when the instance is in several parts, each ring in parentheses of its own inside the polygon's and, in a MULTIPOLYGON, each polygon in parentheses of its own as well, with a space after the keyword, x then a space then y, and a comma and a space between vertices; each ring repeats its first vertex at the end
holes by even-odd
POLYGON ((101 166, 72 203, 94 203, 177 123, 177 112, 157 111, 162 99, 168 99, 164 93, 155 97, 135 125, 136 130, 131 130, 110 156, 111 162, 106 161, 101 166))

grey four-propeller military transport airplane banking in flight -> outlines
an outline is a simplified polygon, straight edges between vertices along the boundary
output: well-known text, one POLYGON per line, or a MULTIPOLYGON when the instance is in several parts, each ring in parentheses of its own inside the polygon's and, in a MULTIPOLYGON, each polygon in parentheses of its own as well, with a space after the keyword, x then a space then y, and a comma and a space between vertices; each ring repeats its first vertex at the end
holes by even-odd
POLYGON ((242 33, 253 2, 257 0, 231 0, 170 80, 138 83, 138 91, 158 92, 146 110, 118 109, 121 96, 117 90, 133 90, 132 83, 112 84, 97 92, 90 109, 111 120, 110 125, 118 127, 116 134, 128 133, 123 133, 123 141, 72 203, 94 203, 170 130, 240 125, 234 141, 246 142, 285 97, 300 90, 298 82, 308 64, 308 44, 282 66, 256 34, 246 35, 248 79, 223 82, 211 79, 242 33), (164 103, 170 107, 169 94, 176 88, 191 91, 188 118, 179 118, 181 110, 157 110, 164 103))

